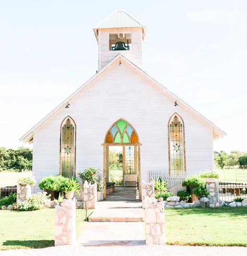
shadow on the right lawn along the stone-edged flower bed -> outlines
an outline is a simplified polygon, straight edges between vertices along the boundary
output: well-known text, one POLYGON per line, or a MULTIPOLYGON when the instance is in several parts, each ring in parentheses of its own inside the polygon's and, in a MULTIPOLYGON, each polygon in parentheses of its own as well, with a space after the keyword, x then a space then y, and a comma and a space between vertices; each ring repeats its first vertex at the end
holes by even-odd
MULTIPOLYGON (((176 211, 178 215, 228 215, 241 216, 247 215, 247 207, 220 207, 220 208, 183 208, 183 209, 169 209, 169 212, 176 211)), ((168 213, 168 212, 167 212, 168 213)), ((169 214, 169 213, 168 213, 169 214)))

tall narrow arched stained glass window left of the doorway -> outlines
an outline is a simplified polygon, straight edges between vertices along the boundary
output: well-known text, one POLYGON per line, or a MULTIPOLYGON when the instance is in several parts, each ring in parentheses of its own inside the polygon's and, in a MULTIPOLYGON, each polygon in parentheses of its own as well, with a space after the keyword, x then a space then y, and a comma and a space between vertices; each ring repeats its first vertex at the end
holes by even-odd
POLYGON ((61 126, 61 174, 75 176, 75 122, 67 117, 61 126))

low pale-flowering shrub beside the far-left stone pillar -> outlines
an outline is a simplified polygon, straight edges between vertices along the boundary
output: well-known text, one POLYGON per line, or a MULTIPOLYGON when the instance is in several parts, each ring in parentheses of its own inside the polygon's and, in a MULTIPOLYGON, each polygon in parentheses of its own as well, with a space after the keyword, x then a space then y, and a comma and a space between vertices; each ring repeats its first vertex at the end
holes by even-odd
POLYGON ((22 202, 18 207, 20 211, 36 211, 44 207, 44 204, 49 201, 49 196, 46 195, 46 192, 32 194, 29 197, 28 201, 22 202))

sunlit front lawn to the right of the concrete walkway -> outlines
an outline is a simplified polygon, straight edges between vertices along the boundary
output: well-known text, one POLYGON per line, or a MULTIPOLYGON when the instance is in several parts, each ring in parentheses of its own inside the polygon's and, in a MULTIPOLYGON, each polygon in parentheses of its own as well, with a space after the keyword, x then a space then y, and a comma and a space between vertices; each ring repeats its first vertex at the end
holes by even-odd
POLYGON ((247 207, 166 210, 169 245, 247 247, 247 207))

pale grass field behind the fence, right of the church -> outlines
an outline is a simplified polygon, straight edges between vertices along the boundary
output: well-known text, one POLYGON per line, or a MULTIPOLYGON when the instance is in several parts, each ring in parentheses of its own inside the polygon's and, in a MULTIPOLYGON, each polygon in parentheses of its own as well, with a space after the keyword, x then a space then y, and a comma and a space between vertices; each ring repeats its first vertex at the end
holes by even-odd
POLYGON ((247 182, 247 169, 217 169, 219 181, 247 182))

